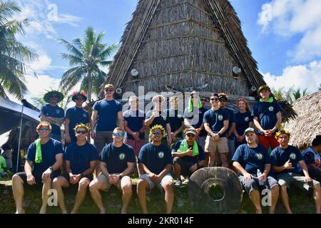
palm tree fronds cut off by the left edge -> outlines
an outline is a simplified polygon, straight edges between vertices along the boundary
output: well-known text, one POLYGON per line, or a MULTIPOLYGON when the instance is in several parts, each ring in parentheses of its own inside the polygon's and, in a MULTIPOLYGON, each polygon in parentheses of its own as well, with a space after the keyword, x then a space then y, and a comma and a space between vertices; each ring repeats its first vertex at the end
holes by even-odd
POLYGON ((26 63, 34 61, 36 54, 16 40, 16 35, 24 35, 28 20, 12 19, 20 12, 14 1, 0 0, 0 96, 8 98, 6 91, 21 99, 28 91, 24 73, 26 63))

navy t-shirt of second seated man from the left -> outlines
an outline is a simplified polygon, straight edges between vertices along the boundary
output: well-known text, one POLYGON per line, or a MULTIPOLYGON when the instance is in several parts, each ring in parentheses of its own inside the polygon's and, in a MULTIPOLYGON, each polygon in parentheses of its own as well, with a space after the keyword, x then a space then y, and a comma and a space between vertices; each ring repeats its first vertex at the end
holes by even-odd
POLYGON ((73 174, 80 174, 91 167, 91 161, 98 160, 96 147, 89 142, 83 146, 73 142, 66 147, 63 160, 70 161, 73 174))

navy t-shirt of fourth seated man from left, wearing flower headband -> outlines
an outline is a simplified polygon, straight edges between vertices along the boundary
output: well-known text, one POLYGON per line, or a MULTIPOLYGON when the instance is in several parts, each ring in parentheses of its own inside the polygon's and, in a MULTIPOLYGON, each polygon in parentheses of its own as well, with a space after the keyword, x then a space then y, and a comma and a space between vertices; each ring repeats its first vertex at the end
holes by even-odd
POLYGON ((151 142, 143 145, 138 155, 138 163, 146 165, 148 170, 158 175, 166 165, 172 164, 173 158, 168 147, 153 145, 151 142))

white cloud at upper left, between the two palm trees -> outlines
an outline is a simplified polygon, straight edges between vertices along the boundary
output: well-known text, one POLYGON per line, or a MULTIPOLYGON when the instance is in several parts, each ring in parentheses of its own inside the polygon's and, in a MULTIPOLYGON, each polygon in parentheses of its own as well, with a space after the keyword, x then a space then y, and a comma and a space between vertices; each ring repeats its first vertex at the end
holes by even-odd
POLYGON ((56 38, 55 24, 70 24, 78 26, 76 22, 81 18, 70 14, 59 14, 56 4, 48 0, 19 0, 21 13, 14 16, 15 19, 29 19, 29 26, 26 27, 28 34, 44 34, 46 38, 56 38))

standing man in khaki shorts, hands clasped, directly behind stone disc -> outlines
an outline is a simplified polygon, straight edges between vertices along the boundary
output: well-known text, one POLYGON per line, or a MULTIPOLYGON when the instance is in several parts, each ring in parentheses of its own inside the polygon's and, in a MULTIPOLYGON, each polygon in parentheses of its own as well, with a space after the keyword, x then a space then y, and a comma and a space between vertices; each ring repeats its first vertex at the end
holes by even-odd
POLYGON ((203 118, 205 130, 208 132, 205 141, 206 161, 209 157, 208 166, 216 165, 216 152, 218 151, 223 167, 228 168, 228 138, 226 138, 228 115, 218 106, 218 93, 210 95, 210 103, 212 108, 206 111, 203 118))

